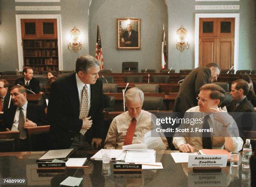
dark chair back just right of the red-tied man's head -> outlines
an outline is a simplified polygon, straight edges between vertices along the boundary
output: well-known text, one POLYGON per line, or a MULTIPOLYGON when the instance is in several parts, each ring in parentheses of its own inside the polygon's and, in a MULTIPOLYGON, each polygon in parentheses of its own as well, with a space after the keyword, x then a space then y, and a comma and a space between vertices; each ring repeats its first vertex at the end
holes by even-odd
POLYGON ((163 110, 163 97, 145 96, 143 110, 163 110))

